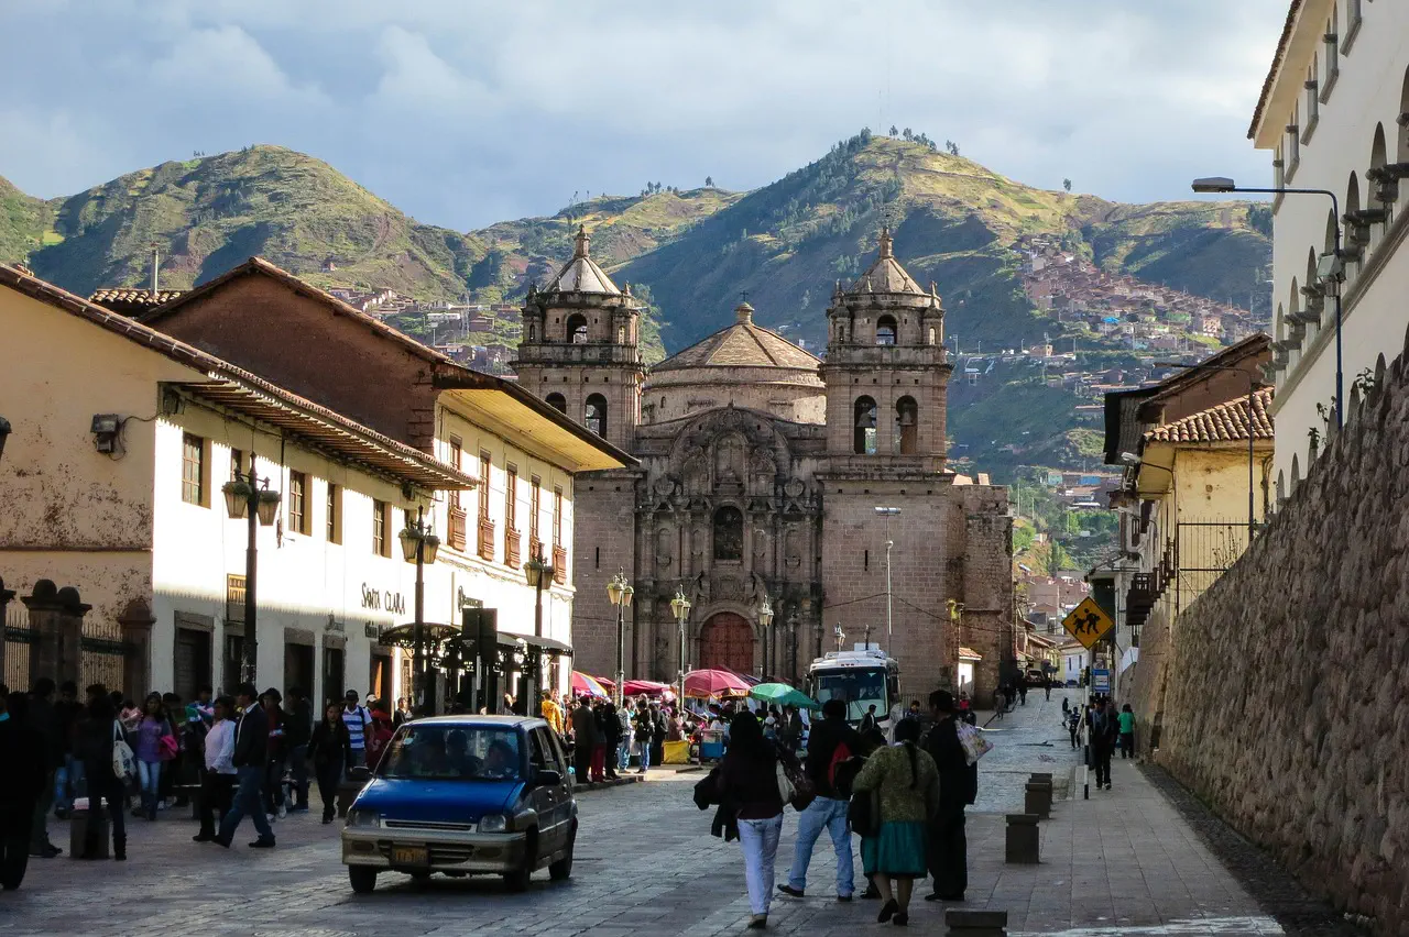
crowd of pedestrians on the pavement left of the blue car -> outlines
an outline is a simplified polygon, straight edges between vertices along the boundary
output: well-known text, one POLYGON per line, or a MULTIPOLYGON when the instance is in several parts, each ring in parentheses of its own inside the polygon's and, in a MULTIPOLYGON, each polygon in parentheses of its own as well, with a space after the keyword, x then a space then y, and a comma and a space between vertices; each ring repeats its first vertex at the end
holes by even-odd
MULTIPOLYGON (((355 689, 314 713, 297 687, 259 692, 254 684, 214 696, 149 692, 141 703, 101 684, 61 687, 39 678, 28 692, 0 685, 0 751, 14 765, 0 772, 0 886, 18 888, 31 858, 62 848, 48 839, 48 817, 68 819, 86 803, 111 831, 111 855, 127 858, 128 820, 187 806, 200 820, 197 843, 230 847, 248 816, 252 848, 275 846, 273 824, 310 809, 316 782, 323 822, 337 812, 338 785, 351 768, 375 767, 397 725, 410 718, 406 699, 386 701, 355 689)), ((103 854, 101 823, 90 822, 79 858, 103 854)))

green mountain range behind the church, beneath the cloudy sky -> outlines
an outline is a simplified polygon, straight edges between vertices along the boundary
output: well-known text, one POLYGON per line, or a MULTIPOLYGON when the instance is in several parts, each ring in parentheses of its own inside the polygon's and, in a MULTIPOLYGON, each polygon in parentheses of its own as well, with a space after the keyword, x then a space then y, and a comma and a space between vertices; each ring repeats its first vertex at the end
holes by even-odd
MULTIPOLYGON (((865 269, 883 224, 912 276, 938 286, 948 333, 965 350, 1013 348, 1045 332, 1079 343, 1075 367, 1136 363, 1131 352, 1033 307, 1014 250, 1031 235, 1057 238, 1112 272, 1268 315, 1260 284, 1271 260, 1265 205, 1126 205, 1033 189, 931 144, 868 131, 751 193, 651 186, 468 234, 421 225, 327 163, 279 146, 162 163, 46 203, 0 179, 0 260, 28 260, 82 294, 145 284, 155 243, 168 288, 261 255, 317 286, 513 304, 557 270, 585 225, 593 256, 651 305, 648 360, 731 321, 745 290, 762 324, 820 350, 833 284, 865 269)), ((506 342, 517 335, 516 318, 496 324, 506 342)), ((402 325, 414 332, 424 322, 402 325)), ((1089 463, 1076 402, 1026 367, 1005 366, 972 387, 957 381, 957 453, 999 478, 1020 464, 1089 463)))

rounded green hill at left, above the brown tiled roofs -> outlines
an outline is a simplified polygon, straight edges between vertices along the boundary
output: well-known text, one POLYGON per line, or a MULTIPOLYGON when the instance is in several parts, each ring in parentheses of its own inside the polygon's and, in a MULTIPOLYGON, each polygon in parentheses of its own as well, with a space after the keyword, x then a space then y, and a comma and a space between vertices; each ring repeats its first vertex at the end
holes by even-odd
POLYGON ((318 284, 459 298, 485 248, 416 224, 327 163, 282 146, 170 162, 48 203, 41 277, 75 293, 161 281, 189 288, 261 255, 318 284), (334 269, 335 267, 335 269, 334 269))

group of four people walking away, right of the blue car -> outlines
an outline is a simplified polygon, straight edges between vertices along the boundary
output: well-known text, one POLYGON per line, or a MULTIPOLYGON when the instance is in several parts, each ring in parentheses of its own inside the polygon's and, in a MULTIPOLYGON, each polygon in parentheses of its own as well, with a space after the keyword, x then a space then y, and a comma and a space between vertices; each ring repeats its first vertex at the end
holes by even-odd
POLYGON ((926 900, 964 900, 964 810, 978 795, 978 770, 961 743, 967 719, 952 694, 936 691, 929 703, 927 727, 914 705, 888 740, 875 713, 852 729, 847 705, 827 701, 823 718, 810 726, 803 760, 793 746, 768 737, 771 712, 762 720, 747 708, 728 715, 728 750, 696 785, 695 802, 716 806, 713 831, 740 841, 751 929, 768 926, 775 885, 783 895, 805 896, 823 831, 837 854, 838 902, 855 896, 851 836, 861 836, 861 898, 881 902, 881 923, 909 923, 914 882, 926 877, 934 884, 926 900), (785 803, 799 809, 797 840, 788 881, 775 884, 785 803))

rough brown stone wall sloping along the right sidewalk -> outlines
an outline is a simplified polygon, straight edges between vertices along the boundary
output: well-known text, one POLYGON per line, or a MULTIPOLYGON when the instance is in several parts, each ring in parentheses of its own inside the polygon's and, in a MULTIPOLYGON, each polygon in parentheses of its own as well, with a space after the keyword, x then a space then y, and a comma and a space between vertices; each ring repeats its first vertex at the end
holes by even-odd
POLYGON ((1253 549, 1151 636, 1155 757, 1309 889, 1409 934, 1409 377, 1377 370, 1253 549))

